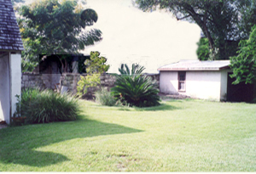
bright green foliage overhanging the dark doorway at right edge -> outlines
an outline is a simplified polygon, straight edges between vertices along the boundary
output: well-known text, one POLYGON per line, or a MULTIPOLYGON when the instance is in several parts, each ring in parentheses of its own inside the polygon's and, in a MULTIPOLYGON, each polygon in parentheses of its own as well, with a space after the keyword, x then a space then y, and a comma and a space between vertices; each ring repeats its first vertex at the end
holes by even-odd
POLYGON ((233 70, 231 77, 236 77, 234 84, 241 81, 253 83, 256 80, 256 25, 253 26, 248 40, 242 40, 236 57, 230 59, 233 70))

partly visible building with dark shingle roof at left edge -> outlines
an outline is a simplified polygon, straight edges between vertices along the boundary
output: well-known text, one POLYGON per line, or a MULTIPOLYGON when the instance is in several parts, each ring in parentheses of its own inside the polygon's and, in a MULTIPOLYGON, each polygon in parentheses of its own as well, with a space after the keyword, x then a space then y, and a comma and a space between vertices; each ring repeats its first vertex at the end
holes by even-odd
POLYGON ((0 121, 8 124, 20 95, 23 49, 11 0, 0 0, 0 121))

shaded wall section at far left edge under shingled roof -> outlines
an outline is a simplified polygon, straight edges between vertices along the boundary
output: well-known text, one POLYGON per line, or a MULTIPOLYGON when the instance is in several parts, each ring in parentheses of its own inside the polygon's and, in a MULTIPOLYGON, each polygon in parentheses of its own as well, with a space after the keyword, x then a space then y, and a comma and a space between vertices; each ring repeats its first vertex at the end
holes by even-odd
POLYGON ((9 123, 9 53, 0 55, 0 120, 9 123))

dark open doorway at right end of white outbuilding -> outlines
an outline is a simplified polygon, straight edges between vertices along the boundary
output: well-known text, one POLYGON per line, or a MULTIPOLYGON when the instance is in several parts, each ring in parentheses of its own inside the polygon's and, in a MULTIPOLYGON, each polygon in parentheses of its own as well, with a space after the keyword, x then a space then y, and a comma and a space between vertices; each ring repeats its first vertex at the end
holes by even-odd
POLYGON ((232 84, 236 79, 231 78, 228 73, 227 100, 230 102, 251 102, 253 100, 253 84, 241 82, 237 85, 232 84))

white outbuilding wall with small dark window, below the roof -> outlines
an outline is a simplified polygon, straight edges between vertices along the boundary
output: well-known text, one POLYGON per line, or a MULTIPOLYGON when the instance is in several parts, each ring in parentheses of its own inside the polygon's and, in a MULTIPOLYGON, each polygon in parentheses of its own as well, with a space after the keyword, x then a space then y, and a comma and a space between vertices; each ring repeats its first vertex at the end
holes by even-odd
POLYGON ((186 91, 178 92, 177 71, 160 71, 160 92, 180 93, 193 98, 222 100, 227 93, 231 70, 186 71, 186 91))

